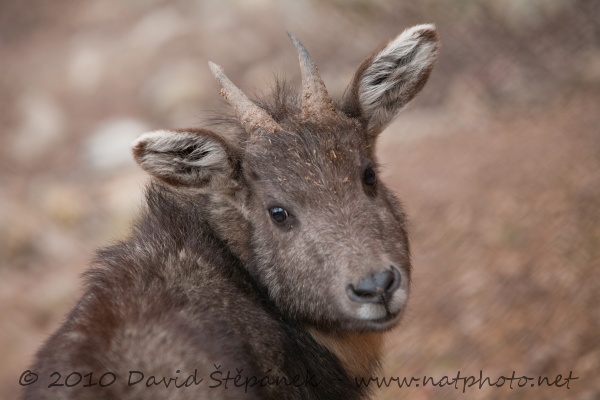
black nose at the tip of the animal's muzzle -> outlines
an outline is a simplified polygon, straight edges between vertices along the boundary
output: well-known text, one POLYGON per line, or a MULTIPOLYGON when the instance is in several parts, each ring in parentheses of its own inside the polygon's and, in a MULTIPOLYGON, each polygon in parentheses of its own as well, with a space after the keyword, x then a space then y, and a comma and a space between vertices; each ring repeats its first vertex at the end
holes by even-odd
POLYGON ((400 287, 400 271, 391 266, 390 269, 368 275, 358 284, 348 285, 347 293, 351 300, 359 303, 382 303, 400 287))

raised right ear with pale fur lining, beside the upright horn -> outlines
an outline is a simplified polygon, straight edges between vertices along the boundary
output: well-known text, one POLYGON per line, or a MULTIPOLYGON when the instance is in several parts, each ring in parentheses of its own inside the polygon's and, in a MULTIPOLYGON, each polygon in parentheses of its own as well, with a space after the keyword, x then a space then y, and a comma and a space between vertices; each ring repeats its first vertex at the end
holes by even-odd
POLYGON ((379 134, 421 91, 439 48, 434 25, 405 30, 367 57, 344 95, 342 109, 379 134))

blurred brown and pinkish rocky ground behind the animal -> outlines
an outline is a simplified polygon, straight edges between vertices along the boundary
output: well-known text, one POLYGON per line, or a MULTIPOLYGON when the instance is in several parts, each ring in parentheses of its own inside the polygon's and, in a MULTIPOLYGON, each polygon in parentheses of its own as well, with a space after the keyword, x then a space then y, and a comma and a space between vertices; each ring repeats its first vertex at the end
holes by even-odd
POLYGON ((600 399, 600 2, 0 1, 0 398, 123 237, 146 177, 129 143, 299 84, 294 32, 341 95, 381 42, 433 22, 424 91, 381 136, 411 218, 414 290, 381 376, 548 376, 566 387, 378 399, 600 399))

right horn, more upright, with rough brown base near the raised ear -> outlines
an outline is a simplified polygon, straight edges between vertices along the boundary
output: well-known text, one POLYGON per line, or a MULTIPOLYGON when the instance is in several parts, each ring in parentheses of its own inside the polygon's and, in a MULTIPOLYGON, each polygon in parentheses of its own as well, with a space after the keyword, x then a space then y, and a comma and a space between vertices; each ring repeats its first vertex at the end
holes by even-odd
POLYGON ((288 32, 294 46, 298 50, 300 59, 300 72, 302 74, 302 113, 304 115, 322 115, 328 111, 334 111, 335 106, 325 84, 321 80, 317 66, 310 58, 306 48, 292 33, 288 32))

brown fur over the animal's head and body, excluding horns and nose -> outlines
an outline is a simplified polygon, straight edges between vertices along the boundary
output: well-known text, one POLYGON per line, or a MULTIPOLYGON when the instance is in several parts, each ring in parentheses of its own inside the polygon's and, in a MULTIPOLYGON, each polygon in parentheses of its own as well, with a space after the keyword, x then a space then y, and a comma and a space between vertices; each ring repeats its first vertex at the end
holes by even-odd
MULTIPOLYGON (((409 39, 433 41, 432 29, 413 28, 409 39)), ((424 72, 410 90, 431 65, 415 68, 424 72)), ((39 380, 23 398, 368 396, 353 378, 377 372, 381 335, 401 318, 411 266, 399 202, 364 178, 377 173, 374 138, 389 120, 361 113, 358 90, 346 95, 351 112, 313 118, 302 96, 277 84, 257 101, 276 130, 246 132, 225 118, 213 130, 142 136, 133 154, 155 177, 146 206, 127 239, 98 252, 85 294, 39 351, 31 368, 39 380), (289 218, 274 223, 273 207, 289 218), (397 292, 372 304, 350 298, 351 287, 390 268, 401 274, 397 292), (131 371, 144 380, 128 385, 131 371), (73 372, 116 381, 49 388, 54 372, 59 383, 73 372), (239 380, 210 387, 228 372, 239 380), (151 376, 179 380, 146 385, 151 376)), ((415 94, 401 90, 382 92, 385 101, 415 94)))

